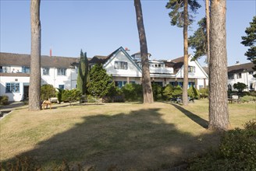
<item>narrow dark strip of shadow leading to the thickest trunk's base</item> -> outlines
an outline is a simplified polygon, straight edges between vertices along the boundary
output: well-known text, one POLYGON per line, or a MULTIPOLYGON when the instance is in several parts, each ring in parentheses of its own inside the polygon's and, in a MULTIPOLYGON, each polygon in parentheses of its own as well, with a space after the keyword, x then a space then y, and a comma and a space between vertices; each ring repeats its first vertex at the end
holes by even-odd
POLYGON ((175 106, 177 110, 180 110, 182 113, 184 113, 187 117, 189 117, 191 120, 193 120, 195 123, 199 124, 201 127, 208 128, 208 121, 204 120, 203 118, 197 116, 196 114, 190 112, 189 110, 184 109, 182 106, 171 103, 172 106, 175 106))

